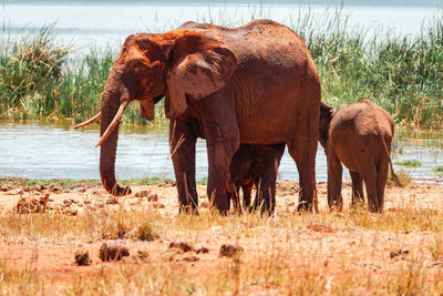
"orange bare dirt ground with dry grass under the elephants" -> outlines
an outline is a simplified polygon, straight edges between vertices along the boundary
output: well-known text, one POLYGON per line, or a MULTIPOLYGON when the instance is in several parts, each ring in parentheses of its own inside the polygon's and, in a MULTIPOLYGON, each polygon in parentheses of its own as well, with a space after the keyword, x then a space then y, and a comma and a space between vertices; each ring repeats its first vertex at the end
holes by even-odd
MULTIPOLYGON (((198 229, 193 225, 181 227, 183 222, 179 220, 185 218, 177 215, 178 203, 174 184, 133 186, 132 190, 131 195, 115 198, 97 185, 85 184, 72 188, 1 185, 0 211, 3 217, 9 217, 9 222, 3 220, 1 226, 3 232, 0 232, 0 258, 9 268, 32 271, 32 275, 44 283, 47 290, 58 293, 65 293, 66 287, 75 287, 78 283, 100 279, 106 273, 122 273, 122 268, 136 274, 143 266, 166 269, 157 271, 157 275, 167 273, 177 276, 178 273, 196 278, 199 283, 230 283, 226 289, 218 287, 218 284, 214 289, 209 284, 203 284, 203 287, 197 285, 192 289, 199 292, 197 294, 213 295, 226 290, 228 294, 243 295, 289 294, 299 280, 319 286, 319 294, 379 294, 385 292, 384 280, 396 280, 401 285, 403 278, 411 274, 412 277, 420 277, 423 271, 426 276, 422 282, 433 286, 433 292, 439 290, 435 283, 443 280, 443 257, 439 257, 439 244, 443 243, 439 241, 440 229, 443 225, 426 226, 423 222, 426 217, 418 217, 416 224, 424 226, 416 226, 414 217, 409 216, 421 213, 420 211, 441 214, 443 186, 439 184, 411 183, 405 187, 388 186, 384 213, 378 215, 367 213, 365 208, 357 214, 349 210, 344 210, 343 213, 329 213, 326 183, 319 183, 320 214, 299 215, 295 212, 299 187, 296 183, 282 181, 277 187, 277 211, 274 217, 253 218, 248 214, 231 214, 228 217, 218 217, 222 222, 209 222, 207 228, 203 226, 198 229), (119 244, 126 246, 131 253, 123 262, 103 263, 99 258, 100 247, 106 241, 103 236, 85 237, 70 231, 60 236, 55 233, 42 234, 41 229, 34 229, 34 235, 27 235, 25 229, 20 233, 11 225, 14 222, 13 216, 25 216, 27 221, 31 222, 23 225, 37 227, 35 225, 40 225, 35 222, 38 215, 49 215, 51 218, 60 214, 65 220, 75 221, 85 215, 99 215, 94 213, 115 212, 131 215, 141 211, 148 211, 162 217, 157 224, 159 235, 152 242, 146 242, 134 239, 131 229, 126 232, 126 235, 119 238, 119 244), (403 212, 408 217, 399 217, 403 214, 398 213, 403 212), (226 223, 223 220, 226 220, 226 223), (393 226, 394 224, 398 226, 393 226), (14 231, 6 231, 9 226, 14 231), (169 244, 177 239, 184 239, 193 251, 172 253, 169 244), (244 249, 237 264, 243 273, 239 283, 230 277, 220 279, 226 271, 239 273, 235 269, 237 265, 233 265, 231 258, 219 256, 220 246, 228 242, 235 242, 244 249), (208 253, 196 252, 202 246, 206 247, 208 253), (91 265, 75 264, 74 254, 79 249, 89 252, 91 265), (418 266, 416 273, 414 266, 418 266), (377 284, 368 284, 368 280, 377 284)), ((206 186, 198 185, 198 192, 200 216, 210 220, 207 214, 209 210, 206 186)), ((344 208, 349 208, 350 195, 350 184, 346 183, 344 208)), ((101 221, 97 220, 96 223, 100 224, 101 221)), ((51 228, 51 225, 48 227, 51 228)), ((3 272, 4 269, 3 266, 3 272)), ((0 274, 1 271, 0 268, 0 274)), ((385 285, 390 287, 391 284, 385 285)), ((412 288, 414 287, 406 287, 412 288)), ((166 294, 182 294, 181 290, 169 289, 168 293, 166 289, 166 294)), ((295 290, 299 292, 298 288, 295 290)), ((395 294, 398 290, 393 292, 395 294)), ((418 292, 423 289, 419 288, 418 292)), ((112 294, 116 292, 112 290, 112 294)), ((308 290, 308 294, 311 293, 317 292, 308 290)))

